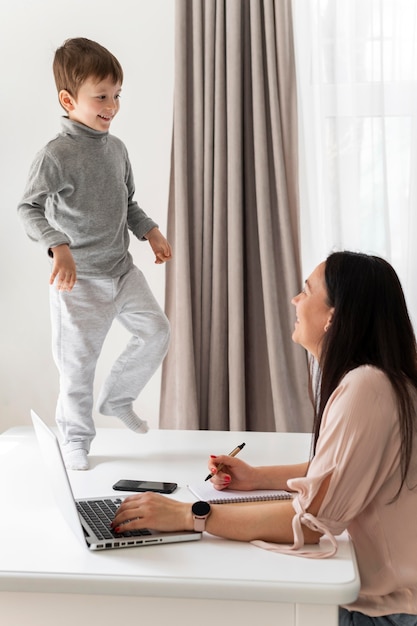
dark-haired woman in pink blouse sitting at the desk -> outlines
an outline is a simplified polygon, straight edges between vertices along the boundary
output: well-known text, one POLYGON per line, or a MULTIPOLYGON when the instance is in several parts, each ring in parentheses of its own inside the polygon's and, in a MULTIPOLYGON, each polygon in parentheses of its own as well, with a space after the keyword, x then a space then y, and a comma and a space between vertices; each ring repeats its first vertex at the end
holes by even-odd
MULTIPOLYGON (((347 529, 361 590, 340 608, 339 624, 416 626, 417 348, 398 277, 379 257, 337 252, 292 303, 293 340, 319 365, 312 459, 251 467, 211 457, 218 489, 289 488, 294 499, 212 506, 198 523, 214 535, 315 557, 308 544, 326 533, 334 546, 327 555, 334 554, 334 536, 347 529)), ((126 499, 113 526, 192 529, 198 512, 144 494, 126 499)))

